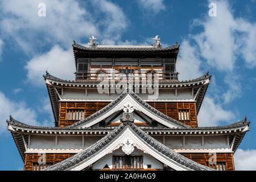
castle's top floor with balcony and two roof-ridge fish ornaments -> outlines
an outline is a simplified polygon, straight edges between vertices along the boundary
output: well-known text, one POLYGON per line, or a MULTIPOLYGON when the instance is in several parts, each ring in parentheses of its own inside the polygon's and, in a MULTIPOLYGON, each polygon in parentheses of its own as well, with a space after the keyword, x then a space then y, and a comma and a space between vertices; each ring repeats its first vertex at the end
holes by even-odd
POLYGON ((142 79, 148 73, 156 74, 159 80, 178 80, 176 59, 179 45, 163 48, 156 36, 151 46, 98 46, 93 36, 89 47, 73 43, 75 55, 75 80, 97 80, 100 73, 117 80, 133 74, 142 79))

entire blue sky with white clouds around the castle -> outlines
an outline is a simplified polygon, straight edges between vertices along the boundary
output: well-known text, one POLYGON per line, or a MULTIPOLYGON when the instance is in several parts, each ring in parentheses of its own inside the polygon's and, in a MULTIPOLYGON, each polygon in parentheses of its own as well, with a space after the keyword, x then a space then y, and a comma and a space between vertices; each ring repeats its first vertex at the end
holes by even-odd
POLYGON ((0 170, 23 169, 9 115, 31 125, 53 126, 42 75, 46 70, 73 80, 73 40, 85 44, 180 44, 180 80, 213 75, 199 114, 199 125, 225 125, 247 116, 251 121, 237 169, 256 169, 256 1, 51 1, 0 2, 0 170), (46 16, 38 16, 38 5, 46 16), (215 3, 217 16, 210 17, 215 3))

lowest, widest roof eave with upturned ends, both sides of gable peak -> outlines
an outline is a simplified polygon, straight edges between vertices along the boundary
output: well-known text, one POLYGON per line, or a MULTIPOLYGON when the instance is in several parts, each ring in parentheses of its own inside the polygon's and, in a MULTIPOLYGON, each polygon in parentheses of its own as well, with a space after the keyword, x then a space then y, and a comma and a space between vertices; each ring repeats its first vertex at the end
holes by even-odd
MULTIPOLYGON (((7 120, 8 129, 11 131, 11 134, 14 138, 14 142, 16 147, 19 150, 20 156, 24 160, 24 152, 26 148, 24 147, 22 135, 24 138, 28 137, 28 134, 42 134, 42 135, 56 135, 56 134, 86 134, 86 132, 96 133, 96 134, 108 134, 115 130, 117 127, 92 127, 86 129, 79 129, 79 128, 67 128, 67 127, 46 127, 46 126, 31 126, 26 125, 22 122, 16 121, 14 118, 10 116, 10 120, 7 120)), ((242 142, 243 137, 246 134, 246 131, 249 130, 250 122, 247 122, 247 119, 243 119, 240 122, 233 123, 231 125, 226 126, 215 126, 215 127, 197 127, 197 128, 187 128, 187 129, 167 129, 167 128, 155 128, 154 130, 150 128, 141 128, 145 133, 149 134, 150 131, 158 131, 158 133, 163 132, 170 132, 175 134, 183 134, 183 135, 191 135, 191 134, 210 134, 210 135, 226 135, 229 134, 230 136, 230 143, 235 138, 233 151, 235 152, 242 142), (232 131, 232 133, 225 133, 225 131, 232 131)))

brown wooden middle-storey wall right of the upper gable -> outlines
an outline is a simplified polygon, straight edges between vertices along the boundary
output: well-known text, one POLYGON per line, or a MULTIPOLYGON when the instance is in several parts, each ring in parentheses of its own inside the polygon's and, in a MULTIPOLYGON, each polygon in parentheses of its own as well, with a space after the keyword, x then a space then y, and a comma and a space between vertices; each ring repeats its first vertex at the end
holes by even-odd
POLYGON ((196 102, 148 102, 148 104, 177 121, 179 121, 179 109, 188 109, 189 120, 180 122, 197 127, 196 102))

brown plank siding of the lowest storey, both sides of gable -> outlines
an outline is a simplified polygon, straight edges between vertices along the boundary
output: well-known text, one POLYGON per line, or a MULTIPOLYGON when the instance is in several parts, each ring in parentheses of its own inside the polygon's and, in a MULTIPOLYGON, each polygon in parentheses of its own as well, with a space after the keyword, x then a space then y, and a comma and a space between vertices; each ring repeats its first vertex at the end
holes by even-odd
MULTIPOLYGON (((75 154, 46 154, 46 164, 53 165, 65 159, 68 159, 73 155, 75 154)), ((209 158, 212 156, 212 155, 209 155, 208 153, 195 153, 195 154, 185 153, 181 155, 199 164, 202 164, 204 166, 208 166, 209 158)), ((221 154, 216 154, 216 156, 217 156, 216 158, 217 162, 224 162, 226 164, 226 171, 234 171, 233 154, 221 153, 221 154)), ((24 171, 33 171, 35 169, 35 165, 39 164, 38 161, 40 161, 39 160, 40 157, 42 157, 42 155, 26 154, 24 171)))

